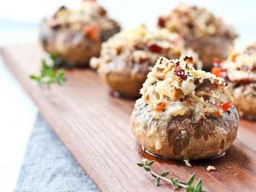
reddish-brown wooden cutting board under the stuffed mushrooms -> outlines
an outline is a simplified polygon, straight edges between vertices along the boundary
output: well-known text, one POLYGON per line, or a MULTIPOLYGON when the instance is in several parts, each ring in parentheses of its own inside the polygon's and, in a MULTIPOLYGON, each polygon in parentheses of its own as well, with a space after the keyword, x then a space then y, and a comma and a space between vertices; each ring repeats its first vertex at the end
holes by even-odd
MULTIPOLYGON (((4 62, 18 79, 40 113, 66 145, 88 176, 102 191, 170 191, 171 185, 137 166, 143 158, 155 159, 155 172, 186 181, 192 174, 208 191, 256 190, 256 123, 240 120, 238 137, 223 157, 184 162, 152 157, 141 150, 130 129, 135 100, 116 98, 91 69, 66 70, 63 86, 51 90, 29 79, 38 74, 45 56, 39 45, 11 45, 1 50, 4 62), (217 170, 207 172, 214 165, 217 170)), ((21 101, 22 102, 22 101, 21 101)), ((183 191, 183 189, 181 189, 183 191)))

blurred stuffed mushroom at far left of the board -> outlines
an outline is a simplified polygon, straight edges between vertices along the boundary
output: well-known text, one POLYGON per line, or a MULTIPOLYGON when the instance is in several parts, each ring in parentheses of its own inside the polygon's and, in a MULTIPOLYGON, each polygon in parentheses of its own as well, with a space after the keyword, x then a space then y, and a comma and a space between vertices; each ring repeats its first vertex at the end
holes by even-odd
POLYGON ((45 51, 72 66, 88 66, 99 56, 101 43, 120 31, 96 1, 82 1, 76 10, 61 7, 42 22, 39 40, 45 51))

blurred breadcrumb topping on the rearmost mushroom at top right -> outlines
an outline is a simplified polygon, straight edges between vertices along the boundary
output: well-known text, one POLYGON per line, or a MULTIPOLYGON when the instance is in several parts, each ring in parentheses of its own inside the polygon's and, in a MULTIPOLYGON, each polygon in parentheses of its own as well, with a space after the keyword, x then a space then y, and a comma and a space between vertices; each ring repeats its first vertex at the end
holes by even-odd
POLYGON ((232 26, 223 23, 204 8, 180 4, 158 20, 159 27, 179 32, 187 37, 223 36, 231 42, 237 37, 232 26))

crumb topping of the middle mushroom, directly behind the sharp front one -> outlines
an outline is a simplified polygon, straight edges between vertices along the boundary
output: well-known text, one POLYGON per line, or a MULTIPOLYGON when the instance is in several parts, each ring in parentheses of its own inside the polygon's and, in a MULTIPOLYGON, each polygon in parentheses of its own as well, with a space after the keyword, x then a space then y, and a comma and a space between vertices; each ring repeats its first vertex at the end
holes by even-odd
MULTIPOLYGON (((137 73, 144 65, 151 69, 159 56, 177 58, 181 54, 193 56, 197 69, 202 68, 198 54, 184 48, 184 40, 167 29, 148 30, 144 25, 123 30, 102 44, 99 58, 92 58, 92 68, 121 71, 127 68, 137 73), (146 64, 146 65, 145 65, 146 64)), ((148 70, 144 73, 148 73, 148 70)))

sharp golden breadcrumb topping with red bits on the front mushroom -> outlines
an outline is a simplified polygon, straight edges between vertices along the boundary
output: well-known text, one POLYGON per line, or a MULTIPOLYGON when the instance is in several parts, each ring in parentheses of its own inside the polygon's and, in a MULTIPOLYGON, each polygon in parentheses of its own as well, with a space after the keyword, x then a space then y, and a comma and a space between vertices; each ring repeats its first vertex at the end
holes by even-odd
POLYGON ((140 90, 148 113, 156 119, 194 113, 196 118, 222 117, 233 103, 223 79, 195 70, 193 58, 182 55, 168 60, 160 57, 140 90))

